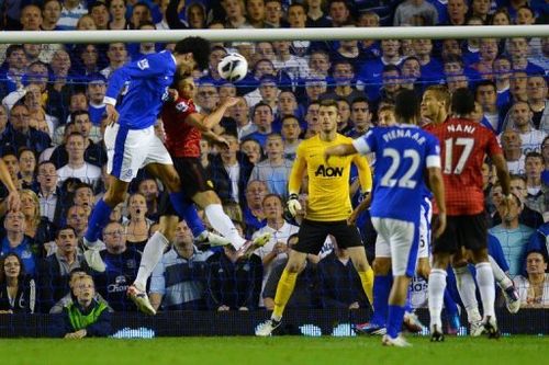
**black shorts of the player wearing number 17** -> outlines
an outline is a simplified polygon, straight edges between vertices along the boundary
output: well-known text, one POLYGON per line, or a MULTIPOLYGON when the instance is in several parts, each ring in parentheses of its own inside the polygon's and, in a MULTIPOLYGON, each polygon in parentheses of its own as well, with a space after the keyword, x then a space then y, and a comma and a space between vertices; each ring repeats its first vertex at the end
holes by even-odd
POLYGON ((446 230, 435 239, 433 253, 456 253, 462 247, 468 250, 488 248, 488 220, 484 212, 471 216, 448 216, 446 230))

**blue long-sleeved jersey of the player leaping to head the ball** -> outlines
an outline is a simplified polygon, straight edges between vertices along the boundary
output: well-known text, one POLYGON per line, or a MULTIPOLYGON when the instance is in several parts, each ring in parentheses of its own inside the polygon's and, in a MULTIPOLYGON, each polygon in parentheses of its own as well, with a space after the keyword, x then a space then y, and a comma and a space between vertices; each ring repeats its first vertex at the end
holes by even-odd
POLYGON ((155 124, 168 87, 176 73, 176 59, 167 50, 130 62, 113 72, 105 92, 105 102, 116 107, 119 124, 128 129, 145 129, 155 124))

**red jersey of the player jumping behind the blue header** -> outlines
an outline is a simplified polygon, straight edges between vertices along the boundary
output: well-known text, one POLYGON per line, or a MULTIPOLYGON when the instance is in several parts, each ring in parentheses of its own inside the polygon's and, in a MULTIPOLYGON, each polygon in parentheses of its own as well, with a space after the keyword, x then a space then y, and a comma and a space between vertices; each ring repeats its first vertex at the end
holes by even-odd
POLYGON ((166 148, 172 157, 200 157, 200 130, 184 119, 198 113, 192 99, 179 98, 176 102, 166 103, 163 107, 166 148))

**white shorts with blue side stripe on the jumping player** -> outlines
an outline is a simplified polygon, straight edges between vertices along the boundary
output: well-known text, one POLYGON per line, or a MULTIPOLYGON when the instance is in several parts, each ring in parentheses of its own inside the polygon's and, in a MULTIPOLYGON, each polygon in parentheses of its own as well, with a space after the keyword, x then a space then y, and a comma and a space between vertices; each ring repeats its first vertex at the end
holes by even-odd
POLYGON ((116 123, 104 132, 107 172, 119 180, 131 182, 137 170, 149 163, 173 164, 155 127, 127 129, 116 123))

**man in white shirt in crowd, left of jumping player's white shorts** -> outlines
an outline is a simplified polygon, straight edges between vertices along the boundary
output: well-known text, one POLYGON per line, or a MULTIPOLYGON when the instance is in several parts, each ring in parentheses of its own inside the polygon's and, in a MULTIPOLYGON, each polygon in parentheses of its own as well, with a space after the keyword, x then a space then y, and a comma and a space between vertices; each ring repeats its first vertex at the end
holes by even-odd
POLYGON ((57 170, 58 184, 63 184, 68 178, 77 178, 97 189, 101 178, 101 169, 83 159, 85 144, 83 136, 78 132, 71 133, 67 138, 68 161, 67 164, 57 170))

